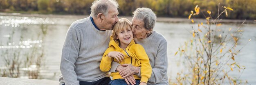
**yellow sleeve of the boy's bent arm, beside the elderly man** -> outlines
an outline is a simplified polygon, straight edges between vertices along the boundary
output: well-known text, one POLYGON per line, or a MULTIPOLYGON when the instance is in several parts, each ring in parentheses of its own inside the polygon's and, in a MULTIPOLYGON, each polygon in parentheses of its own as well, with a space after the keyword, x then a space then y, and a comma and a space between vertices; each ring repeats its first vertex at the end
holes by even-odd
MULTIPOLYGON (((111 48, 111 47, 110 47, 111 48)), ((103 57, 101 59, 101 64, 99 65, 99 68, 102 72, 108 72, 111 68, 111 62, 113 61, 112 57, 108 57, 108 53, 113 51, 108 48, 105 53, 103 54, 103 57)))

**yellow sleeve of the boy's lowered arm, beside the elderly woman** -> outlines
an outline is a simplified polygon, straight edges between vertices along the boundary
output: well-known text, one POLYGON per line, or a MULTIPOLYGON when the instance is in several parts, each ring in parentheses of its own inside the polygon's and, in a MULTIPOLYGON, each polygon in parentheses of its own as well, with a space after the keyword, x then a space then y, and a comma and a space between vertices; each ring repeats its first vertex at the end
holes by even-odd
POLYGON ((144 50, 143 46, 137 44, 136 49, 136 56, 138 57, 140 61, 140 71, 141 71, 141 81, 140 82, 148 82, 148 79, 151 76, 152 68, 149 63, 148 55, 146 54, 146 51, 144 50))

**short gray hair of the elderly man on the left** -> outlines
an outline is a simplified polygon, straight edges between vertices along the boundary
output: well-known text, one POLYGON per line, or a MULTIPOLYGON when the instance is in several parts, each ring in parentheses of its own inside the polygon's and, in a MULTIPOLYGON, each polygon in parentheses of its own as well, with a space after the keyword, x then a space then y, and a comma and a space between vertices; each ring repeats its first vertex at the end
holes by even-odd
POLYGON ((94 2, 92 2, 90 16, 97 18, 97 15, 99 13, 103 13, 103 15, 108 15, 108 9, 112 5, 117 8, 119 7, 119 4, 116 0, 95 0, 94 2))

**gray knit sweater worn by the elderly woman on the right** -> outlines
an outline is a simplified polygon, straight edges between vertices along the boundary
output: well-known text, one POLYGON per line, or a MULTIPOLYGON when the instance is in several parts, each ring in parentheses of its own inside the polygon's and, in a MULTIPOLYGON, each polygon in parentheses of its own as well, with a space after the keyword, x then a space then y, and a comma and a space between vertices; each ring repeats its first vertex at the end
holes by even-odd
MULTIPOLYGON (((156 31, 146 39, 134 39, 136 44, 141 44, 150 60, 152 74, 147 85, 168 85, 167 77, 167 41, 156 31)), ((112 62, 110 72, 115 72, 119 63, 112 62)), ((139 76, 140 74, 138 74, 139 76)))

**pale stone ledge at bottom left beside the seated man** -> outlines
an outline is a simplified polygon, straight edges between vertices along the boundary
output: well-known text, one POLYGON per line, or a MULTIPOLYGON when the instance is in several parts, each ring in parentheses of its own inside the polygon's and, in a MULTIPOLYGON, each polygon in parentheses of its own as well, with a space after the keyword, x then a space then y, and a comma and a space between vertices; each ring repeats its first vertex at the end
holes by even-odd
POLYGON ((60 85, 59 81, 0 77, 0 85, 60 85))

